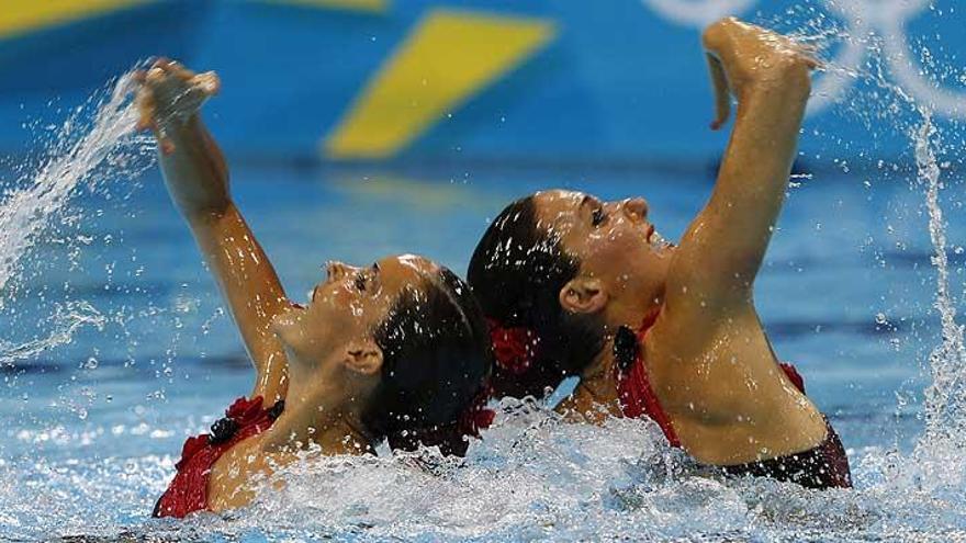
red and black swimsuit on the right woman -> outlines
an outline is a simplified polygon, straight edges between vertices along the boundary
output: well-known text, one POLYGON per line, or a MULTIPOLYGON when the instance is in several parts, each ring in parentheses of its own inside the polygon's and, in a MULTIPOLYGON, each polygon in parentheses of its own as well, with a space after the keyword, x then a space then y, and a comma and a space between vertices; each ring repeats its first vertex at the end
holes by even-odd
MULTIPOLYGON (((625 417, 650 418, 661 427, 664 437, 672 446, 681 446, 681 440, 667 414, 661 407, 658 396, 651 388, 647 363, 639 346, 643 344, 644 336, 656 320, 652 315, 637 332, 634 358, 628 366, 618 360, 616 364, 617 393, 620 410, 625 417)), ((619 358, 619 357, 618 357, 619 358)), ((802 394, 805 382, 795 366, 780 364, 785 375, 802 394)), ((808 488, 851 488, 852 475, 849 470, 849 456, 839 440, 839 434, 825 419, 827 435, 816 448, 805 452, 768 459, 749 464, 718 466, 729 475, 755 475, 772 477, 778 480, 790 480, 808 488)))

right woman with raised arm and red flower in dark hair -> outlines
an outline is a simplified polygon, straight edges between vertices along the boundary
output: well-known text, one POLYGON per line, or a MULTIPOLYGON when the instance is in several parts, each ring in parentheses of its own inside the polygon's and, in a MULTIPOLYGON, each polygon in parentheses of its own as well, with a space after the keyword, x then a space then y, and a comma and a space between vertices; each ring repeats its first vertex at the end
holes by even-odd
POLYGON ((548 191, 490 226, 469 281, 490 319, 497 395, 580 377, 572 418, 653 419, 672 445, 732 475, 849 487, 841 442, 780 364, 753 298, 782 208, 816 61, 726 19, 704 34, 718 128, 738 112, 718 181, 677 246, 643 199, 548 191))

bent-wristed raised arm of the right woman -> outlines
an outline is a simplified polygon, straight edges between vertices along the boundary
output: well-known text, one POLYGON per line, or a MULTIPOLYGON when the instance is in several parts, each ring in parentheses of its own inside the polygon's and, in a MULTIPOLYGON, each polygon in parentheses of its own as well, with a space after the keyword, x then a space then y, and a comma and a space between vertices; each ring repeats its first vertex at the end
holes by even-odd
MULTIPOLYGON (((785 197, 815 60, 790 39, 726 19, 704 34, 717 129, 738 100, 714 193, 669 272, 667 304, 748 304, 785 197)), ((707 313, 707 312, 705 312, 707 313)))

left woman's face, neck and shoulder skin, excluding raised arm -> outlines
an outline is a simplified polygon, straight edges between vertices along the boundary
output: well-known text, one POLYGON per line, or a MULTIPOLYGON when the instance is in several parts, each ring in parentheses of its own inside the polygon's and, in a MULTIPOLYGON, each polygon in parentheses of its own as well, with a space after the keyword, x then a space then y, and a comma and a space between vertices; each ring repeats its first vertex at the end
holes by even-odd
POLYGON ((254 474, 271 474, 310 445, 323 454, 360 454, 373 445, 360 410, 381 378, 383 355, 372 330, 403 292, 418 296, 439 269, 414 256, 367 268, 330 262, 326 269, 327 279, 313 289, 307 304, 291 304, 272 319, 289 362, 285 412, 215 463, 209 483, 215 511, 248 504, 255 493, 246 483, 254 474))

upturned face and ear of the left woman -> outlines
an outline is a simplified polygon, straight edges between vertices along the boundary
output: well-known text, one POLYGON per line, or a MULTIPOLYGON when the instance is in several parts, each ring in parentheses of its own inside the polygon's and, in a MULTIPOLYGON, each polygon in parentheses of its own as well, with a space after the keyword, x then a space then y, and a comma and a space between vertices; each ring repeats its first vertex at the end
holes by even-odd
POLYGON ((360 364, 353 369, 378 375, 382 352, 373 331, 403 292, 422 290, 437 270, 433 262, 414 256, 390 257, 366 268, 329 262, 325 281, 312 290, 308 303, 304 307, 293 304, 274 319, 272 330, 293 363, 317 366, 349 357, 350 365, 360 364))

